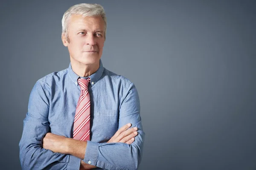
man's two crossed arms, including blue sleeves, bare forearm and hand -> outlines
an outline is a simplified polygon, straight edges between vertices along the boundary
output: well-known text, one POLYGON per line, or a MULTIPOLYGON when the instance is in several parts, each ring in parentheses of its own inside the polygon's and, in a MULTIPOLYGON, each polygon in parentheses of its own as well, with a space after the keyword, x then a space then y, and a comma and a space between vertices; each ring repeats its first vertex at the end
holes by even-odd
POLYGON ((140 119, 138 94, 133 84, 128 87, 128 93, 120 105, 118 120, 119 129, 129 122, 133 127, 137 127, 137 130, 130 128, 137 131, 137 136, 132 137, 135 138, 133 142, 131 136, 125 138, 132 134, 127 130, 116 132, 106 143, 81 142, 66 138, 64 136, 69 136, 68 129, 65 129, 66 133, 54 131, 61 136, 49 133, 53 132, 48 119, 50 88, 45 89, 46 86, 43 88, 41 83, 37 82, 29 97, 29 109, 24 119, 23 134, 19 144, 20 163, 23 169, 79 170, 80 165, 88 169, 89 164, 85 163, 89 162, 91 162, 90 168, 94 165, 111 170, 137 169, 142 158, 145 133, 140 119), (122 140, 123 138, 125 139, 122 140), (53 145, 49 146, 51 143, 53 145), (54 147, 57 145, 58 147, 54 147))

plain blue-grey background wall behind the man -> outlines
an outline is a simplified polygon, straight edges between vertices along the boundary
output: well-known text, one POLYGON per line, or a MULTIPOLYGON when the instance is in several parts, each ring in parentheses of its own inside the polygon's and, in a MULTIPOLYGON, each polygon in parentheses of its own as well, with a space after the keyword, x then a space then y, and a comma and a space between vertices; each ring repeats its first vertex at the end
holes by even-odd
POLYGON ((140 170, 256 170, 253 0, 2 0, 0 169, 20 169, 30 91, 68 67, 61 18, 85 2, 107 14, 103 65, 140 95, 140 170))

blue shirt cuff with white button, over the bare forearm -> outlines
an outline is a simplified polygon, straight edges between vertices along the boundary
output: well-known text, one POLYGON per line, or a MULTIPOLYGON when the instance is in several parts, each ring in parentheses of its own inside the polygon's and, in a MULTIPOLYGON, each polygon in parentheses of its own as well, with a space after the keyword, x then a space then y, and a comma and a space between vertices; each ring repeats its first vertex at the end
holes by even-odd
POLYGON ((99 143, 87 141, 87 147, 84 155, 84 162, 96 166, 99 151, 99 143))

